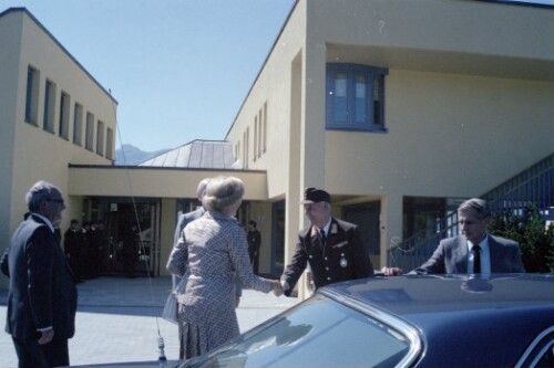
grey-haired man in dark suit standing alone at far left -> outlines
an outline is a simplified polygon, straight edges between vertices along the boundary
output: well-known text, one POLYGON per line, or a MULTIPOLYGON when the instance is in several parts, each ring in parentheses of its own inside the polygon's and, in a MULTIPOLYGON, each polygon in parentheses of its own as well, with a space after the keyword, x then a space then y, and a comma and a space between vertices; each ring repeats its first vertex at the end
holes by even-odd
POLYGON ((12 336, 19 367, 69 366, 76 288, 54 236, 65 206, 60 190, 47 181, 34 183, 25 202, 31 213, 7 250, 10 288, 6 332, 12 336))

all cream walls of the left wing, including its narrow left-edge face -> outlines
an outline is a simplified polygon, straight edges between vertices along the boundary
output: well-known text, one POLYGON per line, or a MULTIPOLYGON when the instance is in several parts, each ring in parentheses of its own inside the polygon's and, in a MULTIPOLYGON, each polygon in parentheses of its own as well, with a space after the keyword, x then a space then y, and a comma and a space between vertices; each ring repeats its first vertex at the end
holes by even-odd
MULTIPOLYGON (((10 11, 0 18, 0 60, 2 61, 0 154, 3 158, 0 164, 0 182, 4 188, 0 200, 4 208, 10 209, 7 211, 8 214, 2 214, 2 221, 0 221, 2 223, 0 225, 2 244, 0 251, 3 252, 6 244, 9 244, 11 233, 27 211, 24 196, 38 180, 51 181, 61 189, 68 207, 62 229, 69 227, 71 218, 81 218, 81 198, 68 196, 68 162, 111 165, 112 161, 95 153, 96 129, 93 135, 94 151, 72 143, 73 104, 79 102, 83 106, 84 114, 86 112, 94 114, 95 127, 100 119, 105 128, 111 128, 115 133, 116 102, 24 11, 10 11), (24 122, 29 66, 39 71, 40 78, 37 125, 24 122), (54 133, 43 129, 47 78, 57 86, 53 104, 54 133), (71 101, 69 140, 58 134, 62 91, 70 95, 71 101)), ((0 281, 2 282, 4 281, 0 281)))

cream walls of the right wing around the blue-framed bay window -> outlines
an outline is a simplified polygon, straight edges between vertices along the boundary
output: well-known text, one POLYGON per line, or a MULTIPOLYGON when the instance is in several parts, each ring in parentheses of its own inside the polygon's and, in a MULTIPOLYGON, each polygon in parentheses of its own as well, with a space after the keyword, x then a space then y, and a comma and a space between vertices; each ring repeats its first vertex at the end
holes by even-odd
POLYGON ((270 200, 287 200, 287 259, 305 187, 380 200, 384 263, 403 196, 478 196, 552 154, 546 34, 554 13, 532 7, 300 0, 227 135, 244 144, 267 102, 268 149, 248 167, 267 170, 270 200), (327 62, 389 70, 387 133, 326 132, 327 62))

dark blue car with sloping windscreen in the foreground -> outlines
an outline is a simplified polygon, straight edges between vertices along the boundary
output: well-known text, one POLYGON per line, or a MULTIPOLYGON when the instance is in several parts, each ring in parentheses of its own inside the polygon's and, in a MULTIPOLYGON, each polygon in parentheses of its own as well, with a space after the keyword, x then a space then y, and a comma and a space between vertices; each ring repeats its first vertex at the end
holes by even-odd
POLYGON ((332 284, 179 368, 554 367, 554 275, 332 284))

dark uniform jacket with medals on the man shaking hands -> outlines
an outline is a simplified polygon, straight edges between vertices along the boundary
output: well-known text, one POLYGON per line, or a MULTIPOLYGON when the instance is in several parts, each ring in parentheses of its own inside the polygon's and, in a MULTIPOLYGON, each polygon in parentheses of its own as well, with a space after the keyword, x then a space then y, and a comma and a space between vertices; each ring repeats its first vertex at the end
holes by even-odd
POLYGON ((285 295, 290 295, 308 263, 316 288, 373 274, 369 252, 361 241, 358 227, 335 218, 331 219, 325 245, 315 227, 299 232, 291 262, 280 277, 289 285, 285 295))

